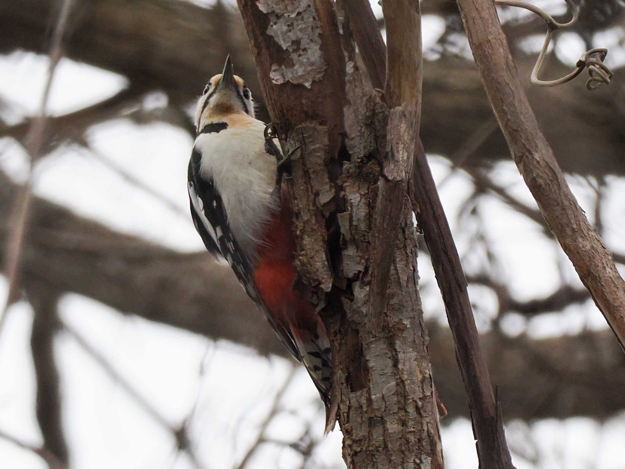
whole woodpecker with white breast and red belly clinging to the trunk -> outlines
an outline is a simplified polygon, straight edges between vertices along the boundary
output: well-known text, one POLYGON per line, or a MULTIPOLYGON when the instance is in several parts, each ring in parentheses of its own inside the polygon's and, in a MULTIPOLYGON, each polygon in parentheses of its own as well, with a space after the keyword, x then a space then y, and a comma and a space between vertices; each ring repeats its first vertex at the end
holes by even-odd
POLYGON ((197 102, 189 161, 191 216, 207 250, 224 258, 297 361, 306 367, 334 428, 331 348, 319 315, 294 291, 292 212, 282 198, 282 157, 271 124, 254 117, 254 101, 234 75, 230 56, 197 102))

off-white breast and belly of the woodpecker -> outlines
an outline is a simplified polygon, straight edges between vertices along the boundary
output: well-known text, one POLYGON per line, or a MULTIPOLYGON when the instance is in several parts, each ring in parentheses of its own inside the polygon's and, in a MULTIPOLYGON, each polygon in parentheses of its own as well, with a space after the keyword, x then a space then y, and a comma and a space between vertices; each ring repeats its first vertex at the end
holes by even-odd
POLYGON ((253 259, 262 228, 276 213, 276 159, 264 150, 265 124, 246 119, 219 133, 201 134, 200 174, 212 178, 226 208, 228 223, 242 250, 253 259))

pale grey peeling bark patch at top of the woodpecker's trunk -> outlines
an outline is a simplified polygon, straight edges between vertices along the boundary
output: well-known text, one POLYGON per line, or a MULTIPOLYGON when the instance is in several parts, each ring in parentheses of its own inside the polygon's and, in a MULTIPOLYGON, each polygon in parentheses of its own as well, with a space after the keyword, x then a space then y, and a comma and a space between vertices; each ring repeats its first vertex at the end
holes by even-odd
POLYGON ((258 0, 256 4, 269 18, 267 34, 289 52, 287 64, 271 65, 271 81, 276 84, 290 81, 310 88, 313 81, 321 80, 327 66, 321 51, 321 23, 314 3, 310 0, 258 0))

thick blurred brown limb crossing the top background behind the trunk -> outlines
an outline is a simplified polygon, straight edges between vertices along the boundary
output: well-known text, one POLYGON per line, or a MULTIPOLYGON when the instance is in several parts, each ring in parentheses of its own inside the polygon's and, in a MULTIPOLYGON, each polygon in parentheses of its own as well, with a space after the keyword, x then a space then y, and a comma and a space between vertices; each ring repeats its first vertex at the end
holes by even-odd
MULTIPOLYGON (((47 51, 56 4, 56 0, 0 3, 0 52, 47 51)), ((66 51, 71 59, 122 74, 135 89, 163 89, 173 106, 186 106, 231 53, 236 72, 246 76, 254 96, 261 97, 241 19, 233 9, 205 9, 178 0, 88 0, 77 8, 73 41, 66 51), (206 38, 211 38, 209 44, 206 38)), ((455 4, 446 0, 424 2, 424 8, 444 16, 457 11, 455 4)), ((449 28, 453 21, 449 20, 449 28)), ((613 21, 619 24, 617 17, 613 21)), ((514 43, 527 34, 542 33, 544 24, 505 24, 504 29, 514 43), (528 29, 528 24, 539 29, 528 29)), ((621 158, 625 126, 617 125, 625 119, 625 73, 615 70, 612 84, 594 93, 576 82, 551 89, 532 88, 529 75, 535 58, 517 54, 515 61, 562 169, 581 174, 625 174, 625 159, 621 158), (554 118, 553 108, 559 109, 556 117, 561 118, 554 118)), ((547 74, 562 76, 566 69, 552 59, 547 74)), ((382 88, 379 84, 374 87, 382 88)), ((459 149, 493 118, 479 73, 471 62, 443 54, 436 62, 426 63, 423 88, 423 144, 430 153, 459 161, 459 149)), ((67 128, 78 131, 91 121, 77 115, 67 124, 67 128)), ((479 165, 484 159, 508 156, 506 140, 495 128, 462 163, 479 165)))

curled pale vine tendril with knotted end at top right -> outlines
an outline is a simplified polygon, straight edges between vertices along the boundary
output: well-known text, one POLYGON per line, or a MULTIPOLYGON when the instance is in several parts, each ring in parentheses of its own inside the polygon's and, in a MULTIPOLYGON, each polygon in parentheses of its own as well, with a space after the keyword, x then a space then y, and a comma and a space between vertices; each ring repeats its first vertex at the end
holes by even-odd
POLYGON ((602 83, 609 84, 610 79, 612 78, 612 76, 614 76, 614 74, 609 68, 607 68, 606 64, 603 63, 607 56, 607 49, 602 48, 591 49, 584 52, 575 64, 576 69, 574 69, 574 71, 569 73, 567 76, 563 76, 562 78, 559 78, 557 80, 550 81, 543 81, 538 78, 538 74, 540 73, 542 64, 544 63, 544 59, 547 54, 547 48, 549 47, 549 43, 551 43, 551 36, 554 31, 557 31, 558 29, 569 28, 569 26, 577 23, 577 18, 579 18, 579 11, 577 11, 577 8, 572 3, 572 0, 564 1, 566 1, 567 5, 571 8, 573 14, 571 21, 569 21, 568 23, 558 23, 555 19, 553 19, 551 15, 547 14, 542 9, 521 0, 495 0, 495 4, 524 8, 534 14, 537 14, 545 21, 545 23, 547 23, 547 35, 545 36, 545 41, 542 44, 542 50, 540 55, 538 56, 536 65, 532 70, 532 83, 539 86, 557 86, 562 83, 567 83, 567 81, 571 81, 577 75, 582 73, 584 69, 587 69, 590 76, 590 78, 586 81, 587 89, 592 91, 602 83))

